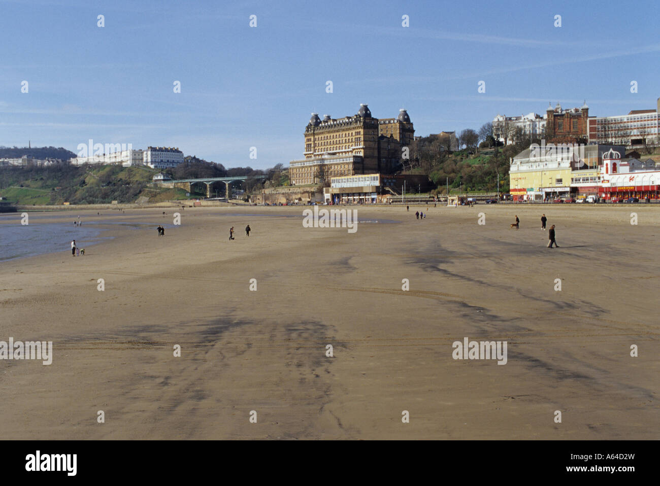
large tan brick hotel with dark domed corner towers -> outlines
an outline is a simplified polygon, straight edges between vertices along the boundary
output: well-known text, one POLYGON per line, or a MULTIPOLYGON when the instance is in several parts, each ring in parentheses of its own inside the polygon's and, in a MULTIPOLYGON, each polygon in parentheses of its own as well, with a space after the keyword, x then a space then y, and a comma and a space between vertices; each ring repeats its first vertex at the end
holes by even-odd
POLYGON ((318 184, 330 177, 391 173, 402 148, 414 139, 413 123, 405 109, 396 118, 374 118, 366 104, 356 115, 340 119, 312 113, 305 128, 305 158, 289 163, 291 185, 318 184))

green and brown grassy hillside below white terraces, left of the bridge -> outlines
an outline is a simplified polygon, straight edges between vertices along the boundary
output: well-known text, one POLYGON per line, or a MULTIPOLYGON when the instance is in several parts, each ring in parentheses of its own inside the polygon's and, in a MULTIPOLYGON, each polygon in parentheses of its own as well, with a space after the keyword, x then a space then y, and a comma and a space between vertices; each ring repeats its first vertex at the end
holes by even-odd
POLYGON ((109 204, 185 198, 182 189, 152 187, 149 167, 3 167, 0 196, 16 204, 109 204))

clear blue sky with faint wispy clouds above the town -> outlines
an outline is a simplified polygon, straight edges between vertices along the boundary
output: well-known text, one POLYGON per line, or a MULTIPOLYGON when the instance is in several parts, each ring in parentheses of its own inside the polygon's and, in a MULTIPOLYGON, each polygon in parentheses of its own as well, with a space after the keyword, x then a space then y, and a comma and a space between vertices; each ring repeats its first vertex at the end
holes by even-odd
POLYGON ((548 102, 586 100, 599 116, 655 108, 660 4, 626 5, 0 0, 0 145, 77 152, 92 138, 266 168, 302 158, 312 111, 344 117, 360 103, 380 118, 405 107, 416 135, 548 102))

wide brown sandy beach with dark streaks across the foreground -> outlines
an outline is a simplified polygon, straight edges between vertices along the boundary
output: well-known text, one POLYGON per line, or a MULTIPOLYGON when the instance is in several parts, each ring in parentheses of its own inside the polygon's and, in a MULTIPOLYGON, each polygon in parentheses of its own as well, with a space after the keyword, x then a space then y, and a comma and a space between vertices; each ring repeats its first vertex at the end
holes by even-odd
POLYGON ((401 222, 352 234, 301 207, 186 208, 162 238, 174 209, 127 210, 152 226, 1 263, 0 340, 53 341, 49 366, 0 361, 1 436, 659 438, 660 208, 420 207, 358 207, 401 222), (506 340, 508 363, 452 359, 466 336, 506 340))

